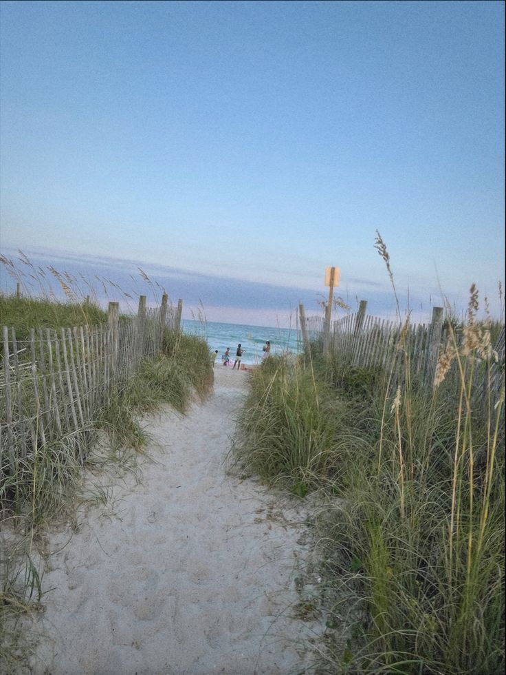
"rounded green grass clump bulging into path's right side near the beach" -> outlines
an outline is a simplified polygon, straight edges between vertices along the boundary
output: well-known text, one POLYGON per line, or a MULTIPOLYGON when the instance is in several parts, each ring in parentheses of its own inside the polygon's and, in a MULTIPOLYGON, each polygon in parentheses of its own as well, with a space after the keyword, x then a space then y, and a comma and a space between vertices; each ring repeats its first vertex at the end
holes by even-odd
POLYGON ((271 356, 251 377, 239 416, 238 461, 303 496, 340 470, 336 435, 343 415, 330 388, 310 371, 271 356))

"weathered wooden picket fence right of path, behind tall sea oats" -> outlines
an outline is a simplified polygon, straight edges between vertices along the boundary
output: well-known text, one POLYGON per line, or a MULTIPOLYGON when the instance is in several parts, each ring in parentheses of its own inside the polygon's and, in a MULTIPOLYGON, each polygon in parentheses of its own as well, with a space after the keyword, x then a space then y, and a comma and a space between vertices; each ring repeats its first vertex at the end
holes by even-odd
MULTIPOLYGON (((380 366, 392 373, 392 382, 397 386, 406 374, 406 364, 412 380, 425 386, 434 386, 437 363, 441 350, 448 340, 461 344, 460 331, 452 334, 443 322, 443 309, 434 307, 432 321, 429 324, 401 323, 366 315, 366 303, 361 311, 347 314, 330 324, 326 331, 325 318, 311 316, 305 318, 300 307, 300 325, 303 340, 322 344, 327 354, 337 355, 349 366, 380 366)), ((504 386, 505 328, 501 326, 493 347, 494 357, 489 363, 483 361, 473 371, 473 390, 476 399, 490 393, 496 398, 504 386)), ((448 384, 459 382, 459 368, 454 360, 445 380, 448 384)), ((459 387, 457 387, 458 389, 459 387)))

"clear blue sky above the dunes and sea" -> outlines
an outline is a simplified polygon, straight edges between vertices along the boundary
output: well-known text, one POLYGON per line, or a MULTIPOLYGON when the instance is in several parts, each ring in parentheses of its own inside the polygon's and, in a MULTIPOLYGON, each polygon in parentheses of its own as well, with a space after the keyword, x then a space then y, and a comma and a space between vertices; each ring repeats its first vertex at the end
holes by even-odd
POLYGON ((0 12, 1 247, 199 273, 188 307, 273 324, 331 264, 391 313, 379 229, 413 309, 472 282, 497 309, 502 2, 0 12))

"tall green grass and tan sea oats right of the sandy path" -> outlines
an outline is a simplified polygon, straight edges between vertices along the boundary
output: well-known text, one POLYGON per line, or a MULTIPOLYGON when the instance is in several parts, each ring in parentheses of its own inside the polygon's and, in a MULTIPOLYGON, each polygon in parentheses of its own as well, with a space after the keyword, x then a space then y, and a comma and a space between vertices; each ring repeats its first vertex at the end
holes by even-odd
POLYGON ((236 460, 299 497, 324 495, 318 672, 504 671, 502 326, 477 311, 473 286, 433 383, 401 337, 395 370, 351 365, 320 340, 296 366, 270 359, 251 377, 236 460))

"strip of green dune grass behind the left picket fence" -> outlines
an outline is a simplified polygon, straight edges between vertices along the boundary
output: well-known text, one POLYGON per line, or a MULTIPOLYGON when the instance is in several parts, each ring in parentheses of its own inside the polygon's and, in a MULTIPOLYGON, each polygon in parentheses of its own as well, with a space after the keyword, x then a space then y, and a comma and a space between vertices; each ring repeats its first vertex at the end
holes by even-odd
POLYGON ((72 328, 107 322, 107 313, 90 302, 56 302, 1 294, 0 316, 2 326, 15 327, 17 340, 28 340, 32 328, 72 328))

